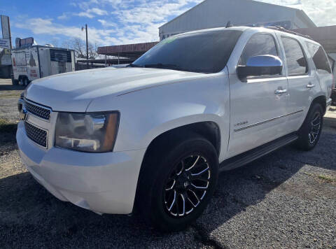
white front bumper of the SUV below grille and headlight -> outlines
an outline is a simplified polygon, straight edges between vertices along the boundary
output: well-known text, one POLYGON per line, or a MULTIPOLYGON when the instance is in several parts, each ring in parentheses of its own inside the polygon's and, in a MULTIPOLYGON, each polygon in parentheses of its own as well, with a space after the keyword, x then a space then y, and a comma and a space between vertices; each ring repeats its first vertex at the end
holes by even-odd
POLYGON ((62 201, 97 213, 132 213, 146 150, 87 153, 32 142, 19 122, 20 156, 31 175, 62 201))

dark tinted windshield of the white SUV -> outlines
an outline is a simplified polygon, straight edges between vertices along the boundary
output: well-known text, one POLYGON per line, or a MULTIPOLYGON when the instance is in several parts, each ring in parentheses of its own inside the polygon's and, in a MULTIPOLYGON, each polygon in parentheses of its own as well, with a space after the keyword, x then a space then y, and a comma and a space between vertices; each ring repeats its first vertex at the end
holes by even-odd
POLYGON ((217 30, 172 36, 130 66, 218 73, 228 62, 241 33, 238 30, 217 30))

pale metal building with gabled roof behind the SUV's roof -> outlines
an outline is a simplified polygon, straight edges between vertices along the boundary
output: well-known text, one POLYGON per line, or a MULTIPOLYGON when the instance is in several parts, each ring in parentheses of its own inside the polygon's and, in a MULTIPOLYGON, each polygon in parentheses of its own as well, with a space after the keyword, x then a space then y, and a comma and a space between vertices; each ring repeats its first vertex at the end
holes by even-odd
POLYGON ((205 0, 159 28, 160 41, 174 34, 197 29, 234 25, 281 26, 286 29, 316 27, 297 8, 253 0, 205 0))

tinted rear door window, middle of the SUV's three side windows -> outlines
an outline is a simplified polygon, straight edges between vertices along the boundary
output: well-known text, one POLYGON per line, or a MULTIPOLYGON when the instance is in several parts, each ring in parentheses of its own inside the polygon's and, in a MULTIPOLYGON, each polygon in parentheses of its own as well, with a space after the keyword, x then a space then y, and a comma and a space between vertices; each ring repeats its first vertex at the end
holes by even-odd
POLYGON ((285 49, 288 74, 304 74, 308 72, 307 60, 300 46, 300 43, 293 38, 281 37, 285 49))

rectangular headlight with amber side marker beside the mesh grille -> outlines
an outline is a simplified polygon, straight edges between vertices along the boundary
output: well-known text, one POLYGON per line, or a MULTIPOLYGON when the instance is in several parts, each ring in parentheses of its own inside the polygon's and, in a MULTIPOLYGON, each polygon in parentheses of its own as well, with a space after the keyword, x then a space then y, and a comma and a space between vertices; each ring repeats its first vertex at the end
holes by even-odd
POLYGON ((113 150, 119 113, 58 113, 55 146, 86 152, 113 150))

